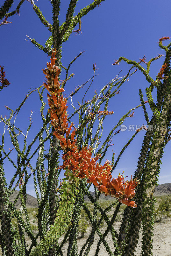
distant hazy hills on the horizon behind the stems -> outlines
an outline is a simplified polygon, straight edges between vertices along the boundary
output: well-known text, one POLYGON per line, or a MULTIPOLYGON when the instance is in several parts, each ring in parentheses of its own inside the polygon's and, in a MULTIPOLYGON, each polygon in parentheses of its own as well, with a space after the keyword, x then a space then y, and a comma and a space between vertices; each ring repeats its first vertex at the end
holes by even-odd
MULTIPOLYGON (((95 197, 95 191, 89 191, 90 194, 95 197)), ((10 196, 10 202, 13 203, 16 196, 18 195, 19 191, 15 190, 14 193, 10 196)), ((160 184, 158 187, 155 188, 154 196, 164 196, 164 195, 171 195, 171 183, 164 183, 160 184)), ((100 195, 99 200, 105 201, 105 200, 111 200, 112 198, 110 196, 104 196, 104 194, 100 195)), ((88 196, 84 196, 85 201, 90 201, 88 196)), ((17 203, 15 204, 15 207, 19 209, 21 206, 21 200, 18 198, 17 203)), ((27 194, 27 200, 26 200, 26 208, 36 208, 38 207, 37 199, 34 196, 27 194)))

